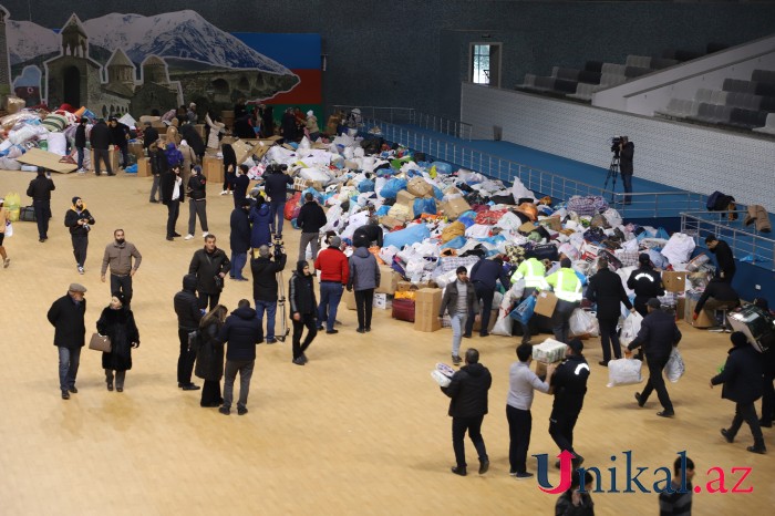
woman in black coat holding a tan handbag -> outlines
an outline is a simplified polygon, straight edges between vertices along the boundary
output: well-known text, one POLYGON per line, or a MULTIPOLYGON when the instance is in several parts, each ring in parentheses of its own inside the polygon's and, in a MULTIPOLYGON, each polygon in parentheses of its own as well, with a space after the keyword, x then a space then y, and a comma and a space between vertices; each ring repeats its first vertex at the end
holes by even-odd
POLYGON ((115 372, 116 391, 124 391, 126 371, 132 369, 132 348, 140 345, 140 332, 132 310, 124 306, 124 296, 114 293, 96 323, 97 332, 111 339, 111 352, 102 353, 107 390, 113 390, 115 372))

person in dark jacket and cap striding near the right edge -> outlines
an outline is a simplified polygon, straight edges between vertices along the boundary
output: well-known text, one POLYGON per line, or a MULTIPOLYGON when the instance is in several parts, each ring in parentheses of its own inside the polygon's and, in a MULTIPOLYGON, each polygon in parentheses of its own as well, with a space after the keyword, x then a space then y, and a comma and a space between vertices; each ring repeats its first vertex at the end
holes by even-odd
POLYGON ((721 429, 721 435, 727 443, 732 443, 737 435, 743 421, 751 429, 754 436, 754 445, 746 450, 752 453, 767 453, 764 445, 764 435, 760 421, 756 417, 754 402, 762 398, 762 381, 764 374, 762 353, 756 351, 748 338, 742 331, 735 331, 730 336, 733 348, 721 373, 711 379, 713 385, 723 384, 721 398, 735 402, 735 416, 728 429, 721 429))

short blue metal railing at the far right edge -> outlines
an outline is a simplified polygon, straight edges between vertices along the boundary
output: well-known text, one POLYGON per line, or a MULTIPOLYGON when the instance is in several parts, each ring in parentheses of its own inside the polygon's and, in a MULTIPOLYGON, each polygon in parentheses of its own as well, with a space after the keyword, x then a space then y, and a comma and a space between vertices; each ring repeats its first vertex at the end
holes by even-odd
POLYGON ((775 271, 775 239, 714 220, 714 216, 725 216, 719 211, 686 211, 681 214, 681 233, 694 238, 698 246, 705 245, 705 237, 715 236, 728 244, 737 260, 775 271))

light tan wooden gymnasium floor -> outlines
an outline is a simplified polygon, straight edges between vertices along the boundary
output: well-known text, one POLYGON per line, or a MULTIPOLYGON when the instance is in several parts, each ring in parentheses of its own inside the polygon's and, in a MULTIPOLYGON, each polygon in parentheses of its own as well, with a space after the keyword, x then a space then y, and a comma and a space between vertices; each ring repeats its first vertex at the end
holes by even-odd
MULTIPOLYGON (((23 195, 33 175, 0 172, 0 195, 23 195)), ((508 476, 505 415, 508 367, 515 339, 465 340, 479 349, 493 373, 490 413, 483 432, 490 471, 462 478, 450 473, 454 457, 448 400, 430 376, 450 360, 451 331, 415 332, 411 324, 376 310, 373 331, 361 336, 355 316, 342 308, 338 336, 319 336, 309 364, 291 364, 290 342, 260 345, 245 416, 224 416, 199 407, 199 392, 176 386, 178 342, 172 298, 180 289, 192 254, 202 246, 164 239, 166 208, 148 204, 149 178, 55 175, 50 239, 39 244, 34 223, 16 223, 6 239, 12 259, 0 270, 0 342, 3 392, 0 419, 0 514, 554 514, 555 496, 536 482, 508 476), (79 276, 70 238, 62 225, 70 199, 79 195, 96 218, 85 276, 79 276), (100 354, 82 353, 79 394, 60 399, 53 329, 45 320, 51 302, 80 281, 89 288, 87 331, 108 302, 100 282, 104 246, 115 228, 143 254, 135 276, 133 309, 142 345, 134 352, 125 392, 107 392, 100 354)), ((228 251, 231 197, 218 185, 208 190, 210 231, 228 251)), ((178 233, 186 234, 182 207, 178 233)), ((286 226, 288 227, 288 226, 286 226)), ((197 235, 200 235, 197 227, 197 235)), ((286 231, 291 255, 298 231, 286 231)), ((288 276, 286 276, 287 278, 288 276)), ((232 309, 251 297, 251 283, 228 282, 223 301, 232 309)), ((706 472, 752 467, 744 487, 753 494, 694 496, 695 515, 771 514, 775 504, 775 436, 765 429, 771 455, 745 451, 743 427, 735 444, 719 430, 734 406, 711 390, 709 379, 726 357, 728 336, 680 324, 686 375, 669 384, 676 417, 663 420, 655 396, 638 409, 633 386, 607 389, 607 370, 597 365, 597 339, 586 354, 592 369, 576 444, 585 465, 617 466, 626 482, 622 452, 648 466, 649 481, 660 466, 688 451, 698 466, 695 485, 706 472), (617 462, 611 462, 617 456, 617 462)), ((547 433, 551 399, 537 394, 533 407, 530 453, 557 454, 547 433)), ((476 464, 467 442, 469 464, 476 464)), ((535 462, 528 463, 535 472, 535 462)), ((735 475, 735 477, 738 475, 735 475)), ((557 481, 552 469, 550 478, 557 481)), ((727 477, 727 488, 735 479, 727 477)), ((606 479, 604 487, 610 487, 606 479)), ((595 494, 597 514, 657 514, 655 494, 595 494)))

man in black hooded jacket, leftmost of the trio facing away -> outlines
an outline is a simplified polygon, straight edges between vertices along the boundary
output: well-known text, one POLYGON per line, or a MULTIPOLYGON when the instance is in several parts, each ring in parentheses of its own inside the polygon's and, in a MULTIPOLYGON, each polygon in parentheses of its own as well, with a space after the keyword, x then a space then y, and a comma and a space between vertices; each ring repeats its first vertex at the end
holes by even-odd
POLYGON ((177 357, 177 386, 184 391, 196 391, 199 385, 192 383, 196 350, 189 344, 192 336, 199 328, 203 316, 199 300, 196 298, 196 276, 183 277, 183 290, 175 295, 173 303, 177 314, 177 338, 180 341, 180 354, 177 357))

